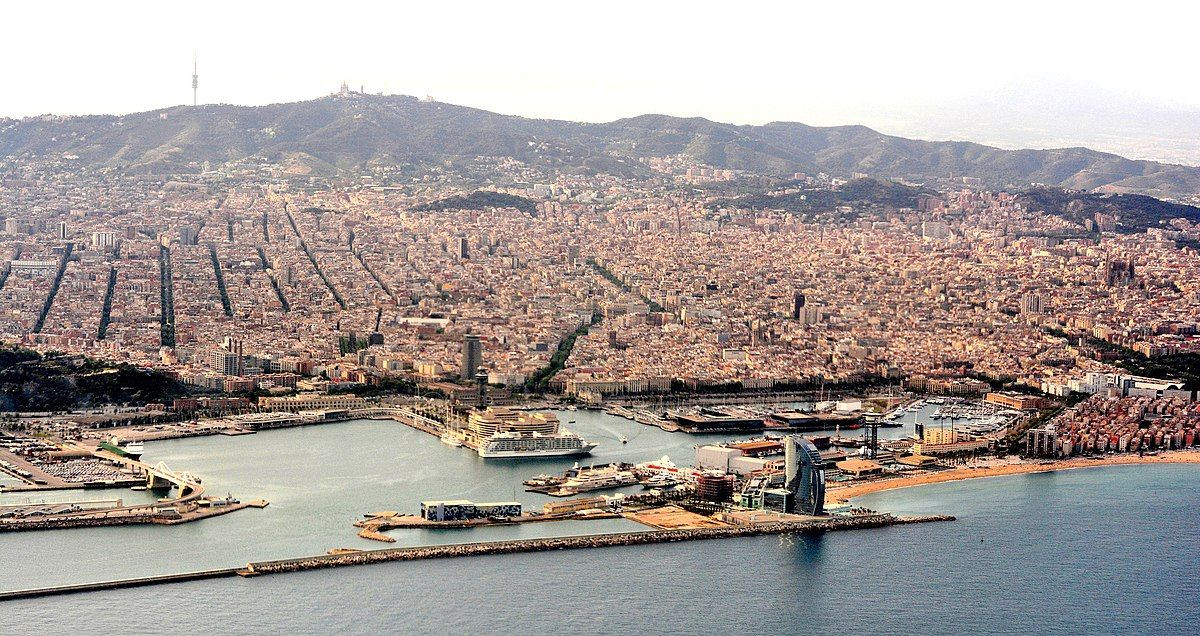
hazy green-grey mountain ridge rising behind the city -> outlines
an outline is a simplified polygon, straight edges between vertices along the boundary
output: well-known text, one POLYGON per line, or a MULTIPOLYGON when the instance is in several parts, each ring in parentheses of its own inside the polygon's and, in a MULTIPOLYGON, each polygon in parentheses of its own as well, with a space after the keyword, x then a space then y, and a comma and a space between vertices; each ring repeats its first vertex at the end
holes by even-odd
POLYGON ((0 119, 2 156, 73 155, 88 164, 146 173, 190 172, 193 163, 254 156, 308 156, 344 172, 378 163, 504 156, 554 170, 634 174, 642 168, 614 163, 677 154, 775 176, 967 176, 992 187, 1045 184, 1166 198, 1200 192, 1200 167, 1129 160, 1082 146, 1003 150, 974 142, 908 139, 862 125, 737 125, 654 113, 575 122, 410 96, 350 94, 254 107, 174 106, 127 115, 0 119))

